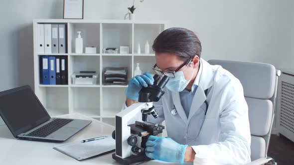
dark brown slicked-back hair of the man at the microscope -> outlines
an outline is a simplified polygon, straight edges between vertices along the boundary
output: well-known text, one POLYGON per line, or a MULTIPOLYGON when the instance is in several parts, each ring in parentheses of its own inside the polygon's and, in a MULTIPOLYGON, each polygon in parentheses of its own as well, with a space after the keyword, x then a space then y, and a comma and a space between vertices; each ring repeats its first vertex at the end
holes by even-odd
POLYGON ((171 53, 182 60, 201 55, 201 43, 191 30, 172 27, 162 31, 152 45, 156 53, 171 53))

